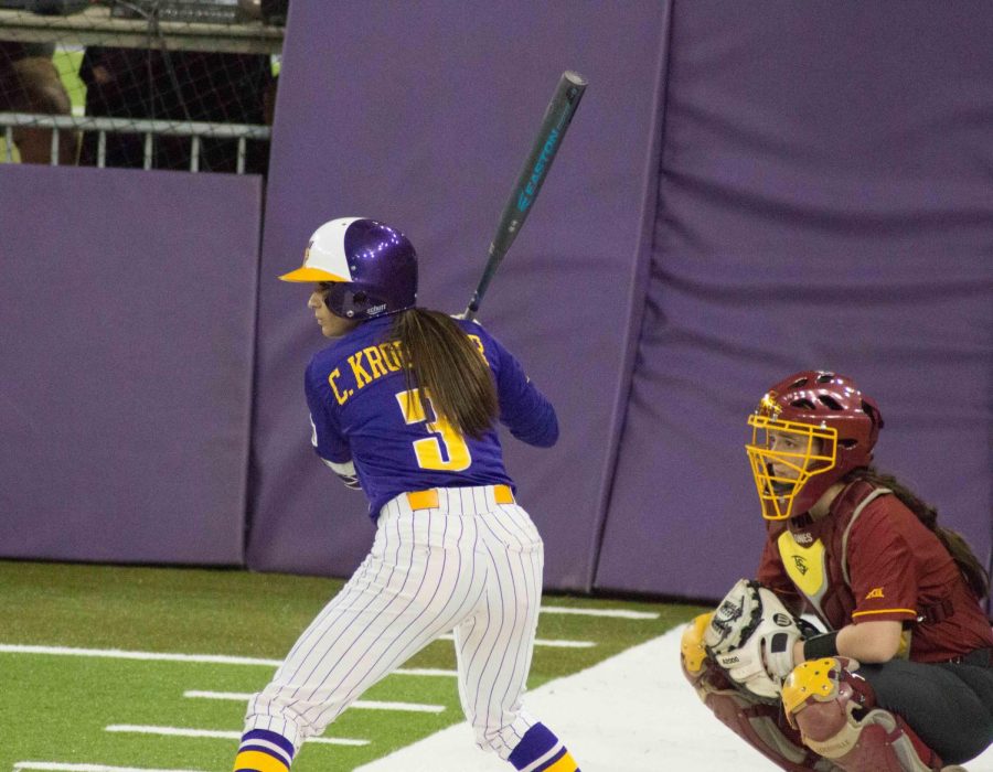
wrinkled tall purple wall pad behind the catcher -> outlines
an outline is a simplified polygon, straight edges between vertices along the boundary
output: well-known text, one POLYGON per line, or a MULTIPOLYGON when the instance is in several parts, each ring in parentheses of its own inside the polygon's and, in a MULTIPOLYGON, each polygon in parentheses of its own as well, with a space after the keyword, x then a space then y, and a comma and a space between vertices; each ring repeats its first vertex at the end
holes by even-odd
POLYGON ((762 521, 745 419, 791 372, 879 401, 876 460, 985 560, 993 14, 676 3, 638 366, 597 586, 720 597, 762 521))

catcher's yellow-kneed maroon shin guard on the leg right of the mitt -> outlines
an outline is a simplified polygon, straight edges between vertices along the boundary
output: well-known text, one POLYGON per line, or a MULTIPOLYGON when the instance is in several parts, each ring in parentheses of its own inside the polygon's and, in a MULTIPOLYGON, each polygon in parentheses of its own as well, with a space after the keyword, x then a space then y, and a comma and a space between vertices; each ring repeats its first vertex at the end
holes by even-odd
POLYGON ((803 743, 846 772, 931 772, 941 759, 903 718, 876 707, 868 682, 845 657, 811 660, 782 687, 787 720, 803 743))

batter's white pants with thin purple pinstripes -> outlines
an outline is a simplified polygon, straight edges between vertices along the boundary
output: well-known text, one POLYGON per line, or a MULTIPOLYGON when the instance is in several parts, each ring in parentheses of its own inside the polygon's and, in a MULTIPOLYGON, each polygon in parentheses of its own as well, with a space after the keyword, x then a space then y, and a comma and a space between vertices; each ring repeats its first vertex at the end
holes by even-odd
POLYGON ((542 597, 544 550, 527 513, 491 485, 437 489, 437 508, 406 494, 381 510, 354 576, 248 703, 246 731, 299 750, 363 691, 455 631, 459 697, 480 748, 506 759, 534 725, 521 708, 542 597))

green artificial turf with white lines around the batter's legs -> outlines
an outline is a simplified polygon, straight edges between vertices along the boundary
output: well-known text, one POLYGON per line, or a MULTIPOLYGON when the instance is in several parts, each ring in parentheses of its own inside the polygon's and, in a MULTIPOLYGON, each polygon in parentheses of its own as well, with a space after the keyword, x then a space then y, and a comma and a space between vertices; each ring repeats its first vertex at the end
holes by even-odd
MULTIPOLYGON (((340 580, 241 570, 134 568, 0 561, 0 644, 224 654, 280 660, 338 591, 340 580)), ((691 619, 701 609, 574 597, 546 605, 650 611, 629 620, 543 613, 540 639, 594 641, 590 648, 536 647, 528 687, 577 673, 691 619)), ((450 641, 405 667, 455 669, 450 641)), ((239 732, 244 701, 184 697, 188 690, 247 694, 269 665, 148 662, 0 651, 0 770, 19 761, 226 770, 234 739, 110 732, 141 725, 239 732)), ((463 718, 450 676, 392 675, 362 700, 441 705, 440 714, 352 708, 325 737, 369 740, 351 748, 308 743, 295 772, 351 770, 463 718)), ((466 728, 467 744, 471 731, 466 728)))

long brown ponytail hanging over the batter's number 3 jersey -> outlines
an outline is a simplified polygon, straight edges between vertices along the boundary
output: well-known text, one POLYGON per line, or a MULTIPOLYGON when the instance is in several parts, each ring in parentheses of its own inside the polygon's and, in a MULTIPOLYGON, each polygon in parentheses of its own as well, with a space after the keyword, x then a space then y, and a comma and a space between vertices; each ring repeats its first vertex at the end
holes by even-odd
POLYGON ((396 314, 392 334, 406 363, 407 388, 430 395, 438 418, 479 438, 493 426, 500 406, 482 352, 440 311, 412 308, 396 314))

